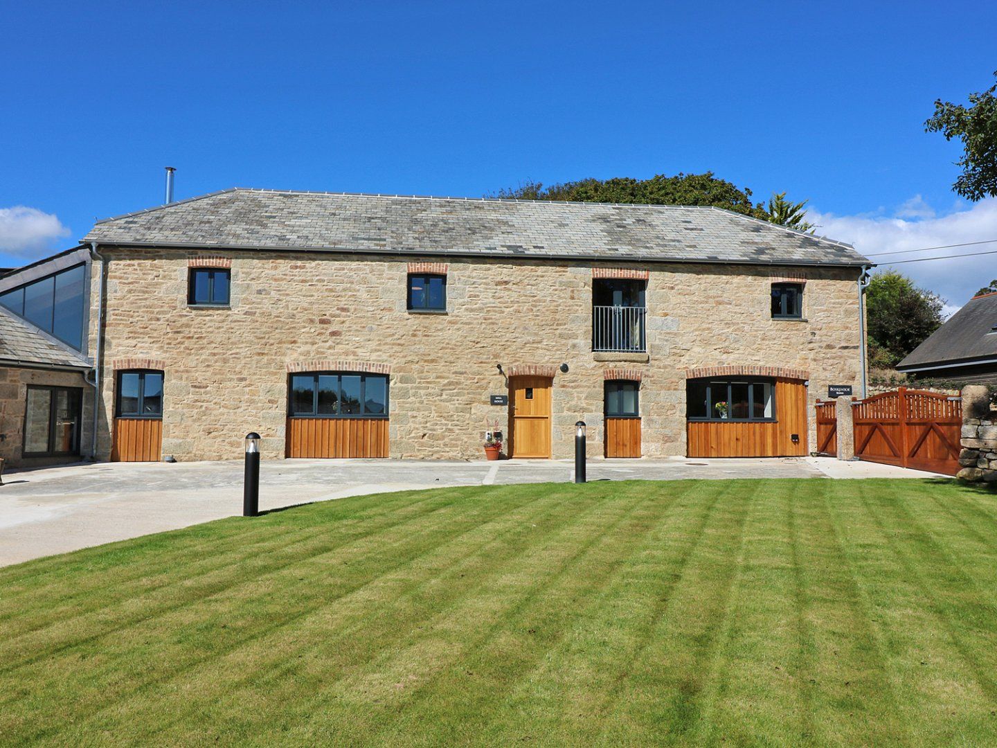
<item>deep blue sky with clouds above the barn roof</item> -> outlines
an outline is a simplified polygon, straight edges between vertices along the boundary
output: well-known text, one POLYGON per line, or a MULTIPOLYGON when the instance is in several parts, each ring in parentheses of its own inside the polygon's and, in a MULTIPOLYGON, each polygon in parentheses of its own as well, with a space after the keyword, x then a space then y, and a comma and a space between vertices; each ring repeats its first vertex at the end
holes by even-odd
MULTIPOLYGON (((810 198, 865 251, 997 238, 992 201, 950 191, 957 145, 922 127, 936 97, 991 84, 997 5, 0 0, 0 17, 6 264, 159 203, 167 165, 177 197, 712 170, 810 198)), ((958 305, 979 285, 964 263, 903 267, 958 305)))

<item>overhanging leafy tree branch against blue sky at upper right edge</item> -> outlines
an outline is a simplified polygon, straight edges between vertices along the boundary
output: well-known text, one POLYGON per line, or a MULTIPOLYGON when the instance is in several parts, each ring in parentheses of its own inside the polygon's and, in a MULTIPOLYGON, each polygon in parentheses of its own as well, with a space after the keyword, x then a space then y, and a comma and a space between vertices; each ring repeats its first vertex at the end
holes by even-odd
MULTIPOLYGON (((997 77, 997 72, 994 73, 997 77)), ((969 200, 997 196, 997 84, 969 95, 969 107, 935 100, 935 113, 924 123, 927 133, 941 133, 946 141, 962 141, 963 155, 955 164, 962 174, 952 185, 969 200)))

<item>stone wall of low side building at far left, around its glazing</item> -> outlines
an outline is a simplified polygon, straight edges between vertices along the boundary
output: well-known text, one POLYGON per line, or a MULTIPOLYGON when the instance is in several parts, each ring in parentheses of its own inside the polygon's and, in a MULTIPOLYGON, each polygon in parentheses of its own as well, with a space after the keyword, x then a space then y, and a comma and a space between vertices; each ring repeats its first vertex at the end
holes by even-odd
POLYGON ((24 413, 27 407, 28 385, 79 387, 83 390, 83 423, 81 453, 90 454, 93 432, 94 388, 84 381, 83 374, 52 369, 24 369, 0 366, 0 457, 5 467, 28 467, 75 462, 79 457, 22 456, 24 445, 24 413))

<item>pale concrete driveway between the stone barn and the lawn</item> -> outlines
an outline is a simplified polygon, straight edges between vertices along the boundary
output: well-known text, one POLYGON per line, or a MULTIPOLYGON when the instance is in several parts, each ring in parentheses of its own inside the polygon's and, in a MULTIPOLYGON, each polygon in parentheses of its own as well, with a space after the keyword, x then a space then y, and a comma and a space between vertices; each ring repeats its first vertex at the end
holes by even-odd
MULTIPOLYGON (((570 460, 498 463, 281 460, 260 471, 260 509, 442 486, 566 483, 570 460)), ((593 460, 588 480, 925 478, 831 458, 593 460)), ((242 463, 96 463, 12 472, 0 487, 0 565, 238 515, 242 463)))

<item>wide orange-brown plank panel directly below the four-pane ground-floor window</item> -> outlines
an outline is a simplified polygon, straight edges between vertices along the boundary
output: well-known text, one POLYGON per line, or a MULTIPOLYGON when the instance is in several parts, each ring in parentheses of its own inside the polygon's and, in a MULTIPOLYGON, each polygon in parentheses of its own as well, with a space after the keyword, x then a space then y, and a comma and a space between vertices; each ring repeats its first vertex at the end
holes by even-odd
POLYGON ((288 418, 287 457, 388 457, 387 418, 288 418))

